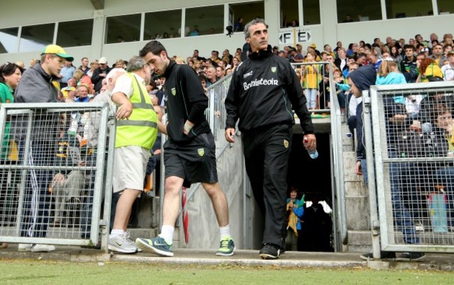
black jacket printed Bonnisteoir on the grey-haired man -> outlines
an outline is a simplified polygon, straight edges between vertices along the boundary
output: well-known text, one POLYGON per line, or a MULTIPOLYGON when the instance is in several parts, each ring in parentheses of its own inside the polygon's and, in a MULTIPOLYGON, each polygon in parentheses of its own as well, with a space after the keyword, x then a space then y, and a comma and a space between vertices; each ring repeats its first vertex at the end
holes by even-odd
POLYGON ((300 118, 302 131, 314 133, 306 97, 298 76, 287 59, 268 50, 249 54, 233 72, 226 97, 226 129, 261 129, 277 124, 295 124, 292 109, 300 118))

